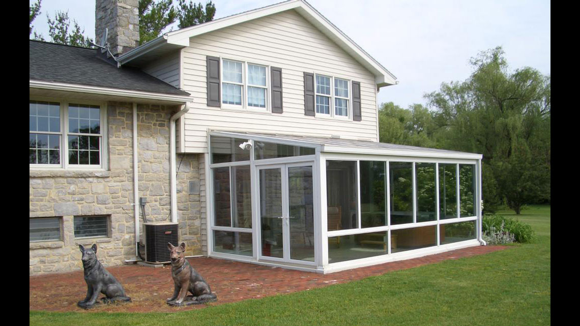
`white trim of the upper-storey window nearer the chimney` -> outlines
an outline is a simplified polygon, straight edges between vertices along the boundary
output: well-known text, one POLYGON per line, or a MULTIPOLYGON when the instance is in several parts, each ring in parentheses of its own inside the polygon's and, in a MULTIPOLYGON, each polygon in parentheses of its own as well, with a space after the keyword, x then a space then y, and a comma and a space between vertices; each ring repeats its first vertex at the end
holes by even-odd
POLYGON ((246 60, 242 60, 242 59, 238 59, 238 58, 230 58, 230 57, 220 57, 220 61, 219 61, 219 65, 220 65, 220 105, 222 109, 234 109, 234 110, 246 110, 246 111, 252 111, 252 112, 271 112, 271 99, 270 99, 270 90, 271 90, 271 83, 270 83, 270 65, 266 65, 266 64, 259 64, 259 63, 253 63, 250 61, 246 61, 246 60), (237 82, 226 82, 223 80, 223 61, 227 60, 227 61, 234 61, 237 63, 241 63, 242 64, 242 83, 237 83, 237 82), (248 81, 248 65, 258 65, 260 67, 264 67, 266 68, 266 87, 261 86, 261 85, 250 85, 249 81, 248 81), (223 84, 232 84, 232 85, 239 85, 242 87, 242 104, 241 105, 237 105, 237 104, 226 104, 223 102, 223 84), (260 87, 266 90, 266 107, 265 108, 260 108, 260 107, 253 107, 251 105, 248 105, 248 86, 251 87, 260 87))

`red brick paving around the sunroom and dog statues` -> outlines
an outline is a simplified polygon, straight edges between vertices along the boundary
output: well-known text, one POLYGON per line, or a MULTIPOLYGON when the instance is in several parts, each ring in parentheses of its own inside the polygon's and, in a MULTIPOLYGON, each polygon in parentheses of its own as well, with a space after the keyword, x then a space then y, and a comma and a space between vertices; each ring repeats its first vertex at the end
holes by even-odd
MULTIPOLYGON (((350 269, 331 274, 300 272, 282 268, 241 263, 213 258, 188 259, 192 266, 211 285, 218 295, 218 302, 211 305, 259 299, 279 293, 289 293, 346 283, 394 270, 414 268, 446 259, 458 259, 503 250, 503 246, 478 246, 443 252, 405 261, 388 262, 364 268, 350 269)), ((205 305, 170 307, 165 299, 173 294, 171 267, 151 268, 141 265, 125 265, 107 268, 124 286, 131 303, 100 305, 92 312, 175 312, 176 310, 200 309, 205 305)), ((77 302, 86 295, 86 283, 82 270, 30 276, 30 310, 55 312, 84 312, 77 302)), ((102 297, 103 295, 100 295, 102 297)))

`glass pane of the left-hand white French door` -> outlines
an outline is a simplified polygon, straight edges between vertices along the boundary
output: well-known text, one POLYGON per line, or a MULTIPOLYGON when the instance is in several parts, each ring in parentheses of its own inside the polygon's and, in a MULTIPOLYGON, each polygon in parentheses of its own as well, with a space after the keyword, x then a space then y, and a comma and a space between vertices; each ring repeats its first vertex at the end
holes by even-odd
POLYGON ((262 255, 284 258, 281 169, 260 170, 262 255))

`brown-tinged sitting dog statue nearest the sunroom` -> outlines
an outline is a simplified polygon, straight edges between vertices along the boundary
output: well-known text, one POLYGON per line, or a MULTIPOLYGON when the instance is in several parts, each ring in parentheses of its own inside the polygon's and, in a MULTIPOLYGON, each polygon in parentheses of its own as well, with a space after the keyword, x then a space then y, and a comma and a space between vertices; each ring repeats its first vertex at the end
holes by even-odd
POLYGON ((167 304, 183 306, 217 301, 218 296, 212 293, 209 284, 185 259, 185 243, 182 242, 179 247, 168 243, 167 247, 171 251, 171 277, 174 284, 173 296, 167 299, 167 304), (188 291, 193 296, 187 296, 188 291))

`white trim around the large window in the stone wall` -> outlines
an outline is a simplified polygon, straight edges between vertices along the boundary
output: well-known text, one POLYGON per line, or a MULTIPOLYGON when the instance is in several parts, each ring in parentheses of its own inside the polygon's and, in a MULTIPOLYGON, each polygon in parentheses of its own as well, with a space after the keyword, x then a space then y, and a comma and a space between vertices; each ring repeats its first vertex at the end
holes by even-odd
MULTIPOLYGON (((30 170, 77 170, 77 171, 105 171, 108 169, 108 124, 107 124, 107 105, 104 102, 87 101, 87 100, 68 100, 66 98, 55 97, 30 97, 29 101, 58 102, 60 104, 60 133, 49 133, 60 135, 60 164, 28 164, 30 170), (96 105, 100 108, 100 134, 101 148, 99 151, 99 166, 68 164, 68 105, 96 105)), ((34 133, 34 131, 29 131, 34 133)), ((42 132, 47 133, 47 132, 42 132)), ((77 134, 77 133, 73 133, 77 134)))

